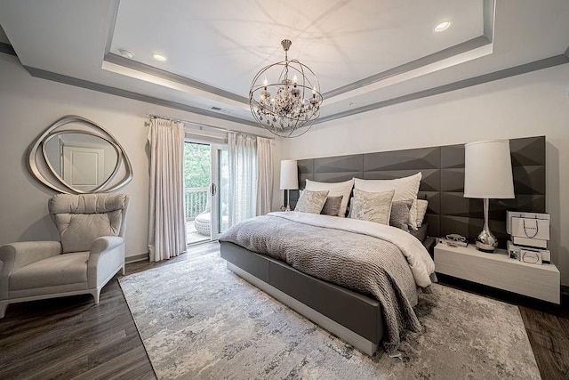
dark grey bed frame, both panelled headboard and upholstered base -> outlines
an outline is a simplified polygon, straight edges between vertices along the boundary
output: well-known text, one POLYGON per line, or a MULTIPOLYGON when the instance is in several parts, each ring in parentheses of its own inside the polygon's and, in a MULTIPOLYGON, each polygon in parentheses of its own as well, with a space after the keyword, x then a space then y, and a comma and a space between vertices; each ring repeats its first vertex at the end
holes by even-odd
MULTIPOLYGON (((515 199, 491 200, 490 228, 506 240, 506 210, 545 212, 545 137, 510 140, 515 199)), ((422 172, 420 198, 429 200, 429 238, 447 233, 474 238, 482 230, 482 200, 463 198, 464 146, 366 153, 299 161, 299 182, 341 182, 352 177, 392 179, 422 172)), ((298 191, 291 193, 292 204, 298 191)), ((384 330, 381 304, 374 298, 296 271, 290 265, 243 247, 220 242, 228 269, 324 327, 358 350, 373 355, 384 330)))

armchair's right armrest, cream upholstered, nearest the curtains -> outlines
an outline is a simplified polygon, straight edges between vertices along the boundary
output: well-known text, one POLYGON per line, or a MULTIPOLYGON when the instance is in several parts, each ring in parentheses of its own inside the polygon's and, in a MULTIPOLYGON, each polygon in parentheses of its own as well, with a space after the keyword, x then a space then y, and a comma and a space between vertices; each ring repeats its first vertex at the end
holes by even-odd
POLYGON ((91 243, 87 261, 89 287, 98 287, 101 281, 124 265, 124 239, 120 236, 102 236, 91 243))

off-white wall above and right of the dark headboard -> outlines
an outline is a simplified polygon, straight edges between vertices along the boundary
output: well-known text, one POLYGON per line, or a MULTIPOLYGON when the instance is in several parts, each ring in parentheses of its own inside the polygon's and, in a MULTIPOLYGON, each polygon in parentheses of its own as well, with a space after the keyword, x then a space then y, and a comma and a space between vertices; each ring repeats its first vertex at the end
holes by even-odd
POLYGON ((553 261, 569 286, 569 65, 314 125, 283 141, 283 159, 546 136, 553 261), (565 167, 565 169, 562 168, 565 167), (564 211, 562 211, 564 210, 564 211))

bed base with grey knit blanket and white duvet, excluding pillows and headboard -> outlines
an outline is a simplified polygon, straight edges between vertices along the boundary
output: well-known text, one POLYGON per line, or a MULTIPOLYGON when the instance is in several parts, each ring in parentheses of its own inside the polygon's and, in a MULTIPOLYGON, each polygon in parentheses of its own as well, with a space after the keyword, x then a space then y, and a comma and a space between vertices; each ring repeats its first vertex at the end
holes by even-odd
POLYGON ((373 222, 291 212, 239 223, 220 245, 229 270, 373 355, 382 340, 393 354, 402 330, 421 329, 413 306, 417 283, 431 283, 434 264, 429 271, 422 261, 432 263, 433 241, 373 222), (407 259, 413 265, 402 252, 416 254, 407 259))

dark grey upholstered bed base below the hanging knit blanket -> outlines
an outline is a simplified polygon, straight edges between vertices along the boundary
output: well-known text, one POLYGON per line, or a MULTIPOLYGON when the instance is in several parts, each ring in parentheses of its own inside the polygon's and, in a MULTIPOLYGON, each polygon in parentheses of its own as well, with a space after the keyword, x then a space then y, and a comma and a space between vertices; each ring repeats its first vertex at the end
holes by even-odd
POLYGON ((316 279, 287 263, 220 242, 228 269, 333 335, 372 356, 383 337, 381 304, 374 298, 316 279))

